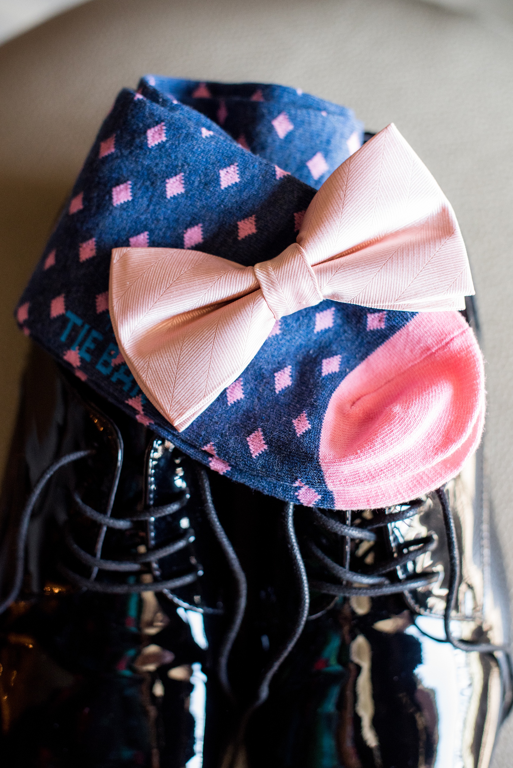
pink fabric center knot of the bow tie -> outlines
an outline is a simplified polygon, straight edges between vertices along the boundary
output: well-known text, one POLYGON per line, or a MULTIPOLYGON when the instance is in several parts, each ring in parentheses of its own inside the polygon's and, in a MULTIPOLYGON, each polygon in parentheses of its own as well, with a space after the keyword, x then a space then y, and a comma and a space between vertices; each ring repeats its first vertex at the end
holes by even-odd
POLYGON ((278 257, 253 267, 269 309, 278 320, 324 299, 305 251, 292 243, 278 257))

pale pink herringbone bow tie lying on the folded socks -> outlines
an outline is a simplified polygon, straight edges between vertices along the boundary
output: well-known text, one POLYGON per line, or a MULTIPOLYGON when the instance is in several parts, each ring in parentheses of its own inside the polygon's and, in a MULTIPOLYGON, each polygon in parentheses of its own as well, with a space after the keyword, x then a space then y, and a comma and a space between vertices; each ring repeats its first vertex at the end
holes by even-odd
POLYGON ((195 250, 115 248, 109 309, 139 386, 181 432, 281 316, 324 299, 459 310, 472 293, 451 204, 391 124, 325 181, 278 257, 241 266, 195 250))

